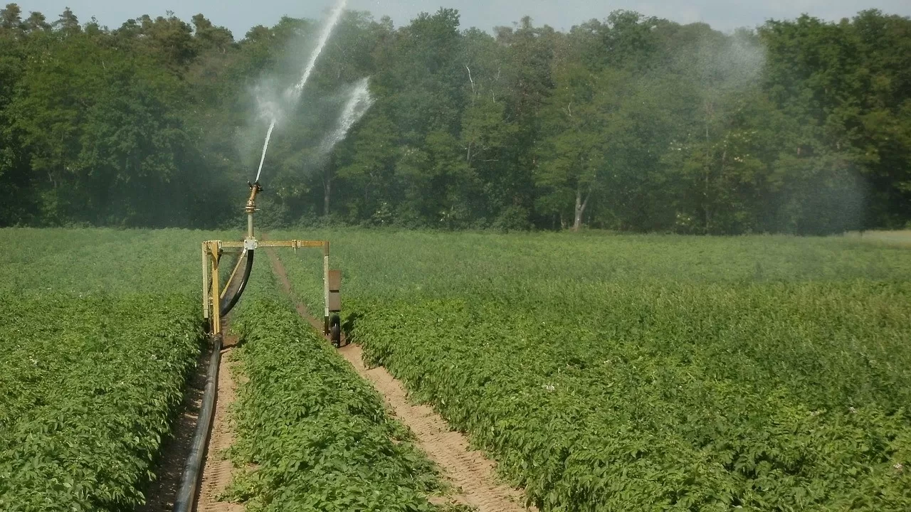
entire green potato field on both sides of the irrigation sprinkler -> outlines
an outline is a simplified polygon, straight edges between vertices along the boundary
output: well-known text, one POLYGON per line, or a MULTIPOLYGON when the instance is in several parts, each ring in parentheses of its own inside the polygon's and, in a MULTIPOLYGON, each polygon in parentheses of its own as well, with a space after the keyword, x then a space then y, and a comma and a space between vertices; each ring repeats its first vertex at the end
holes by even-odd
MULTIPOLYGON (((364 359, 546 511, 911 509, 911 253, 858 238, 281 231, 332 242, 364 359)), ((0 509, 132 510, 206 342, 192 230, 0 230, 0 509)), ((441 510, 440 471, 294 311, 231 313, 247 510, 441 510)))

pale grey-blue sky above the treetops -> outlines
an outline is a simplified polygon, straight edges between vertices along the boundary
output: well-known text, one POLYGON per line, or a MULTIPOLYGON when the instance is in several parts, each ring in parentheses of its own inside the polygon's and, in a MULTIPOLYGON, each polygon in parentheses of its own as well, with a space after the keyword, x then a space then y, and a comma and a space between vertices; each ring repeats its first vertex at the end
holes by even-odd
MULTIPOLYGON (((87 22, 95 16, 101 25, 111 28, 144 14, 155 17, 170 10, 189 21, 190 16, 202 13, 215 25, 228 27, 235 39, 241 39, 251 26, 273 26, 282 15, 322 18, 333 0, 19 0, 18 4, 25 13, 39 11, 49 21, 68 5, 79 21, 87 22)), ((617 9, 681 24, 701 21, 726 32, 803 13, 833 21, 870 8, 911 15, 909 0, 348 0, 348 8, 370 11, 376 19, 389 15, 395 26, 407 25, 418 13, 434 13, 441 6, 458 9, 463 28, 476 26, 485 30, 511 26, 524 15, 530 15, 536 26, 547 24, 568 30, 591 18, 603 19, 617 9)))

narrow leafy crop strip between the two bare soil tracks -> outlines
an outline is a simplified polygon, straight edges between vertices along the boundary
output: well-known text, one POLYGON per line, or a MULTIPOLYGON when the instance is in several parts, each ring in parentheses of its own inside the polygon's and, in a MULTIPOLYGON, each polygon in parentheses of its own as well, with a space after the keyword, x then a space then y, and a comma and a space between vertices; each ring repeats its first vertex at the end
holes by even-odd
POLYGON ((244 343, 231 453, 251 469, 231 500, 251 512, 439 509, 427 497, 440 483, 410 433, 290 303, 251 296, 233 329, 244 343))

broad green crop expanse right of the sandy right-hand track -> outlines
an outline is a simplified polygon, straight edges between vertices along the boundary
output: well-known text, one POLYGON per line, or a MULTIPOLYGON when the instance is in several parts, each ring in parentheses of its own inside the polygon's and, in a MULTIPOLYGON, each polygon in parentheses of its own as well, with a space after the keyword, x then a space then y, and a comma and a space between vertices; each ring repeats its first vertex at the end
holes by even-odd
POLYGON ((333 234, 367 360, 542 510, 911 507, 903 247, 333 234))

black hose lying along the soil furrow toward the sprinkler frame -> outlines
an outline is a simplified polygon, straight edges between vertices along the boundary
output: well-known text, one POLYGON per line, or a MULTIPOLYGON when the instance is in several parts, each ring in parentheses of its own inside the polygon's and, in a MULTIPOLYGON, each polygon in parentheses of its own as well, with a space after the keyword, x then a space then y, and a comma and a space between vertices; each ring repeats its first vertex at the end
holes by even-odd
POLYGON ((196 491, 202 476, 202 458, 206 454, 209 441, 209 430, 212 425, 212 414, 215 412, 215 395, 218 393, 219 364, 221 361, 221 336, 215 336, 212 355, 209 358, 209 371, 206 374, 206 387, 202 392, 200 417, 193 434, 193 443, 189 448, 187 464, 180 476, 180 487, 174 499, 174 512, 192 512, 196 504, 196 491))

